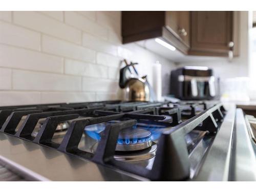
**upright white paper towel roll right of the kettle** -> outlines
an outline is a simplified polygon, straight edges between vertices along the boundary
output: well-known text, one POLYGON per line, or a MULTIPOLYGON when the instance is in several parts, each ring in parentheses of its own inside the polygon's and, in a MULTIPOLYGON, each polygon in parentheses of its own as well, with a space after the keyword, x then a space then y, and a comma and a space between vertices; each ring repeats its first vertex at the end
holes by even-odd
POLYGON ((162 100, 162 66, 157 61, 153 65, 153 89, 156 94, 156 100, 162 100))

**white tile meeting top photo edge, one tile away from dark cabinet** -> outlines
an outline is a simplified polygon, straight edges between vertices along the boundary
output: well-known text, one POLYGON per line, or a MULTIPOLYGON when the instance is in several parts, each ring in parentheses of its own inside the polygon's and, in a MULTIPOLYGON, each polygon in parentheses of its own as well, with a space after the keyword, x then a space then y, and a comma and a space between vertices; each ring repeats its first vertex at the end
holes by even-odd
POLYGON ((82 31, 86 31, 101 38, 108 39, 107 29, 103 28, 101 25, 96 24, 93 20, 84 17, 79 13, 66 11, 65 23, 81 29, 82 31))

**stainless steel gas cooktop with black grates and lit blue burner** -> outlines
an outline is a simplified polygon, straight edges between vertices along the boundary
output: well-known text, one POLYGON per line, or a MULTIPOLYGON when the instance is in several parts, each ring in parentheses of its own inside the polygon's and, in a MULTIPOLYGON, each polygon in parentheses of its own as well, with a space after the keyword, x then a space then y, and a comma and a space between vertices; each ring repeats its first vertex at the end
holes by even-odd
POLYGON ((236 160, 239 114, 217 101, 1 107, 0 164, 17 180, 256 180, 236 160))

